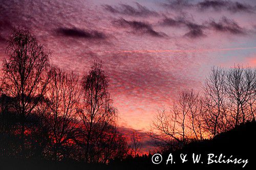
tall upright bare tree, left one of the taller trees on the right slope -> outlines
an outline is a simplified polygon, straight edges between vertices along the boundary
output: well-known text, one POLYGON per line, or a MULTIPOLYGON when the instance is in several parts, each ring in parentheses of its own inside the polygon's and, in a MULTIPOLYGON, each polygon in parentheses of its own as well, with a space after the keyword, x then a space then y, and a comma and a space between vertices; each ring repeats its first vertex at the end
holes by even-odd
POLYGON ((204 90, 205 126, 204 128, 213 136, 225 131, 229 123, 226 116, 226 90, 225 72, 220 67, 212 67, 206 78, 204 90))

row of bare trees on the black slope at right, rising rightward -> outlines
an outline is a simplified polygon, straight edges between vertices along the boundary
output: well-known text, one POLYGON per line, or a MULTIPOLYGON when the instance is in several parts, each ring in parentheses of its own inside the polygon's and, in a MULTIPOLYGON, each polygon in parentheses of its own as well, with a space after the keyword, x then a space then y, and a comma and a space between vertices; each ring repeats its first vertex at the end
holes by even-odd
POLYGON ((203 92, 182 90, 170 111, 157 111, 148 135, 158 146, 179 148, 255 119, 255 72, 239 65, 212 67, 203 92))

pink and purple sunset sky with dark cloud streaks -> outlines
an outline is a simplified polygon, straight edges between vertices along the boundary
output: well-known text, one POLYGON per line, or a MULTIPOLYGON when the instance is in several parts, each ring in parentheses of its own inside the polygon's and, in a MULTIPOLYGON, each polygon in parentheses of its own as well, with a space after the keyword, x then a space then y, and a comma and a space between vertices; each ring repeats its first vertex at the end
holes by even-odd
POLYGON ((86 74, 102 60, 123 129, 148 131, 183 88, 200 90, 211 66, 256 66, 256 1, 0 0, 0 58, 13 27, 86 74))

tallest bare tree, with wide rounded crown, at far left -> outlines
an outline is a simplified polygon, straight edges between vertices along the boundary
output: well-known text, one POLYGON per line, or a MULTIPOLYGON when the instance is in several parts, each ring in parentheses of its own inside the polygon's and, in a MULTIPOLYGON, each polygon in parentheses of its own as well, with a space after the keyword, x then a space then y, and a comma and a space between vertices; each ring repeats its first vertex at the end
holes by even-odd
POLYGON ((49 82, 49 52, 37 43, 28 30, 14 29, 3 62, 2 90, 14 99, 13 108, 20 117, 22 151, 25 148, 25 124, 46 92, 49 82))

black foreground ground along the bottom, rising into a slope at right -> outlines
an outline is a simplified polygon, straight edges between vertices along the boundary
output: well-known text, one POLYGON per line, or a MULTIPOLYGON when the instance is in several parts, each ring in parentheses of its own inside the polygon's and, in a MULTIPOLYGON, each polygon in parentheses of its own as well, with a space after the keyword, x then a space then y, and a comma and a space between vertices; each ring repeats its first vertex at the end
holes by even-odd
MULTIPOLYGON (((179 168, 242 168, 245 160, 248 160, 244 168, 255 169, 255 135, 256 123, 247 123, 241 125, 231 131, 222 133, 211 140, 201 142, 193 142, 186 145, 182 150, 173 152, 172 150, 161 153, 162 161, 159 164, 152 163, 152 156, 149 158, 127 158, 123 161, 112 162, 108 165, 103 164, 84 164, 74 161, 50 162, 43 160, 17 160, 13 158, 0 158, 0 169, 179 169, 179 168), (169 154, 172 153, 173 163, 171 160, 166 165, 166 160, 169 154), (193 163, 193 153, 201 154, 201 159, 198 163, 193 163), (180 154, 187 154, 186 162, 182 163, 180 154), (212 160, 218 163, 208 164, 208 154, 214 154, 212 160), (222 158, 220 159, 220 155, 222 158), (230 158, 230 156, 232 157, 230 158), (217 158, 215 158, 217 156, 217 158), (225 156, 225 158, 223 158, 225 156), (219 161, 233 160, 234 162, 219 163, 219 161), (220 160, 219 160, 220 159, 220 160), (175 163, 174 163, 175 162, 175 163), (202 163, 203 162, 203 163, 202 163), (240 163, 239 163, 240 162, 240 163)), ((170 158, 170 157, 169 157, 170 158)), ((211 162, 211 161, 210 161, 211 162)))

